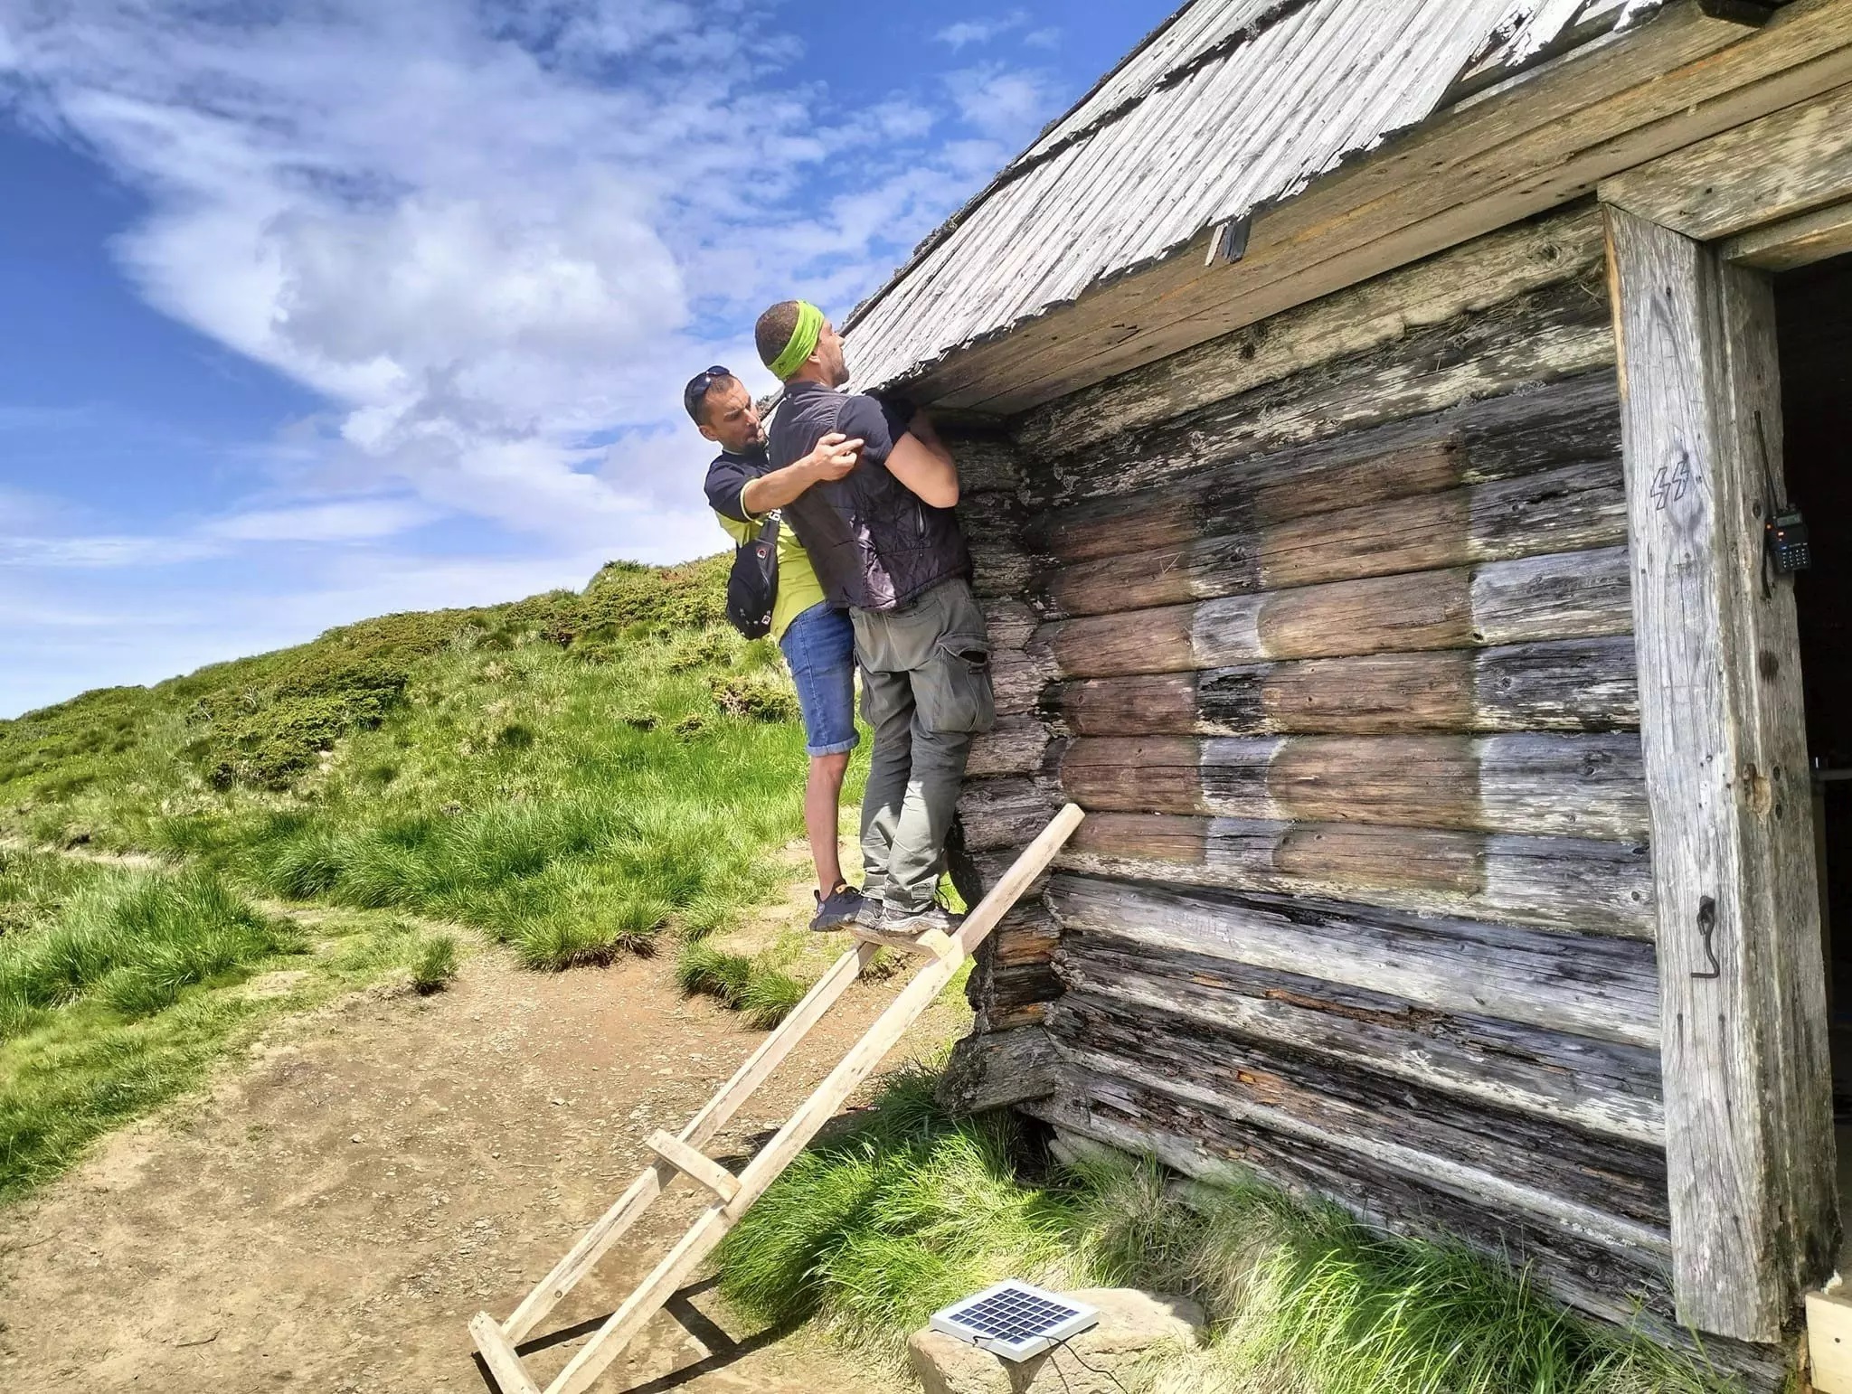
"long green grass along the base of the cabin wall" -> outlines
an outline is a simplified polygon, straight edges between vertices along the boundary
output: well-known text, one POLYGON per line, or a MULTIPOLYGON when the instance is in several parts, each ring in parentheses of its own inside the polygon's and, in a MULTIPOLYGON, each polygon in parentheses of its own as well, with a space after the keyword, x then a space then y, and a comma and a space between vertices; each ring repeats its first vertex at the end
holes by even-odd
POLYGON ((1645 1338, 1576 1318, 1522 1272, 1372 1235, 1259 1183, 1180 1189, 1156 1163, 1117 1157, 1024 1183, 1015 1124, 948 1118, 932 1085, 930 1072, 895 1077, 748 1211, 719 1253, 732 1301, 765 1322, 820 1320, 898 1359, 937 1307, 1000 1277, 1191 1296, 1211 1344, 1141 1368, 1132 1383, 1148 1394, 1722 1388, 1645 1338))

